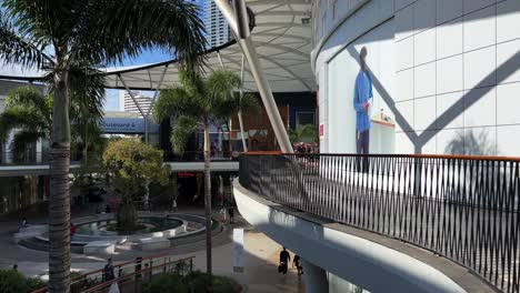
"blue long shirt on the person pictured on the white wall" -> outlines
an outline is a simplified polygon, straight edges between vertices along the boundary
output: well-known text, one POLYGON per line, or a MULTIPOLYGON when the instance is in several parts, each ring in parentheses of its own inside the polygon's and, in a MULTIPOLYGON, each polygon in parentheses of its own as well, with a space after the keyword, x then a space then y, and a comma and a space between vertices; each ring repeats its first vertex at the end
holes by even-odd
POLYGON ((370 129, 368 111, 363 110, 363 103, 372 98, 372 80, 364 70, 360 70, 356 78, 353 104, 356 109, 356 130, 363 132, 370 129))

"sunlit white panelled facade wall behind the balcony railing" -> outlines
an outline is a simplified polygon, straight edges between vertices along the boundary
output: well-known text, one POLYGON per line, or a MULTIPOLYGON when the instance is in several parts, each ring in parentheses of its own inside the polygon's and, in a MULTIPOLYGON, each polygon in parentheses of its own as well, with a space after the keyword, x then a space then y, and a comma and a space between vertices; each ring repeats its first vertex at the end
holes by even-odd
POLYGON ((520 155, 519 0, 314 0, 312 16, 321 152, 356 152, 364 47, 371 115, 394 124, 379 152, 520 155))

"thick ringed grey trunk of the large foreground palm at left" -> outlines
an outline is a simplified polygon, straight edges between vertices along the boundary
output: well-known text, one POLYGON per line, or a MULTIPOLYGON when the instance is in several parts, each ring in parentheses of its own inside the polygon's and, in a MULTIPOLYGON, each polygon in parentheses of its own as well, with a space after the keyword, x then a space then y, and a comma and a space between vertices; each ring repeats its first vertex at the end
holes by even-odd
POLYGON ((51 190, 49 196, 49 292, 70 291, 70 124, 68 72, 54 74, 51 190))

